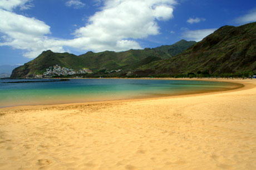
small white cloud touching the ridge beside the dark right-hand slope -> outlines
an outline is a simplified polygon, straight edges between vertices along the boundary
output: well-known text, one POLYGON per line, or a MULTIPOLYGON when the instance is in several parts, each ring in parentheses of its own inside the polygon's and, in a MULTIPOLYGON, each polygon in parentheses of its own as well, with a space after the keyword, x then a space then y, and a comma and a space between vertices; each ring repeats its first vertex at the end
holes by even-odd
POLYGON ((199 29, 199 30, 186 30, 183 33, 183 38, 186 38, 187 40, 194 40, 196 42, 200 42, 200 40, 205 38, 207 35, 210 35, 215 30, 216 30, 216 28, 199 29))

